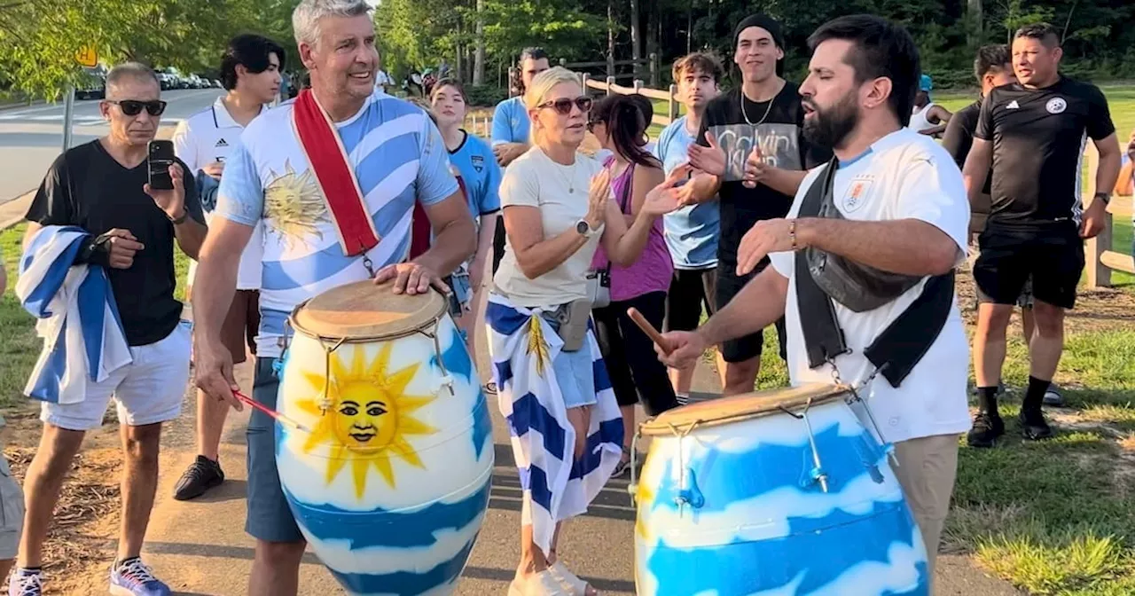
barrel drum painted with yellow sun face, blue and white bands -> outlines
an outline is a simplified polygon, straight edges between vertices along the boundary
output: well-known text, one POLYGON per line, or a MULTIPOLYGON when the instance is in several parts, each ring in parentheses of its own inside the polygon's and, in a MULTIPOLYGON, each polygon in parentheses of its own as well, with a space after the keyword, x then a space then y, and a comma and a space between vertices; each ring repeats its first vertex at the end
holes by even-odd
POLYGON ((488 507, 488 404, 442 294, 359 282, 301 304, 276 463, 296 522, 351 594, 451 594, 488 507))

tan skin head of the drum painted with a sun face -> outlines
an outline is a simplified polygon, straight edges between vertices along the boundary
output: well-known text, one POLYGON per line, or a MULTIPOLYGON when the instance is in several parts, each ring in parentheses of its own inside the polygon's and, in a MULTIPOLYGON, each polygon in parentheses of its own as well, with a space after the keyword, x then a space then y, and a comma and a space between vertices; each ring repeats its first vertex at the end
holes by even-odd
POLYGON ((300 304, 292 327, 330 339, 381 339, 427 327, 446 311, 445 296, 395 294, 394 280, 376 285, 367 279, 334 287, 300 304))

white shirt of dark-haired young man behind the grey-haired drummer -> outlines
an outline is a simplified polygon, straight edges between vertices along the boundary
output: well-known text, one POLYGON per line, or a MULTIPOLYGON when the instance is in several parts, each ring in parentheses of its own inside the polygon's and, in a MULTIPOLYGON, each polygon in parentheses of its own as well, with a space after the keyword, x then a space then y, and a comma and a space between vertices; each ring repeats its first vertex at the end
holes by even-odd
MULTIPOLYGON (((174 153, 188 166, 186 175, 196 176, 197 170, 205 166, 227 160, 243 131, 244 127, 229 116, 224 96, 217 98, 212 106, 177 125, 174 132, 174 153)), ((205 223, 210 221, 212 210, 205 212, 205 223)), ((241 254, 241 268, 236 274, 237 289, 260 289, 263 242, 263 226, 258 224, 252 228, 252 237, 241 254)), ((186 284, 193 285, 196 271, 197 262, 191 259, 190 271, 185 276, 186 284)))

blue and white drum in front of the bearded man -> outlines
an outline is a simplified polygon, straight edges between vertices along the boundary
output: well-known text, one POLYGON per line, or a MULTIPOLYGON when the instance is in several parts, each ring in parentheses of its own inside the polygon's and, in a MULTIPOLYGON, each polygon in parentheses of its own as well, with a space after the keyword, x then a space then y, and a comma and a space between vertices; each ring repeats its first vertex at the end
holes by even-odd
POLYGON ((759 392, 645 422, 638 594, 927 595, 918 527, 847 395, 759 392))

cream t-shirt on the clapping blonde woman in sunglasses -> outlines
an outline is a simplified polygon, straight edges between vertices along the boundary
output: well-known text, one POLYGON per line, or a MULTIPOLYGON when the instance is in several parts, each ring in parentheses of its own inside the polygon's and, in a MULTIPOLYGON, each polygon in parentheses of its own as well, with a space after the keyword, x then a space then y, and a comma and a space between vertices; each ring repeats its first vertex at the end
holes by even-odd
MULTIPOLYGON (((536 207, 544 224, 544 238, 553 238, 587 216, 587 194, 591 177, 603 166, 575 153, 575 163, 562 166, 552 161, 538 146, 528 150, 513 161, 501 181, 501 207, 536 207), (569 192, 573 188, 573 192, 569 192)), ((512 242, 505 241, 501 268, 493 278, 508 300, 524 308, 557 307, 587 297, 587 271, 599 246, 600 234, 595 234, 582 249, 575 251, 560 267, 529 279, 516 265, 512 242)))

